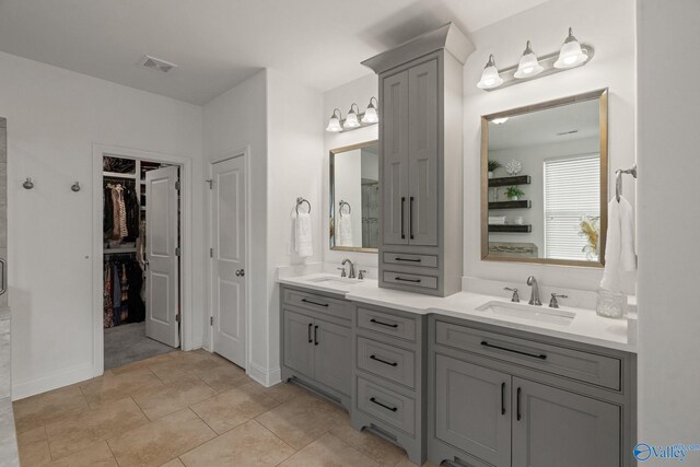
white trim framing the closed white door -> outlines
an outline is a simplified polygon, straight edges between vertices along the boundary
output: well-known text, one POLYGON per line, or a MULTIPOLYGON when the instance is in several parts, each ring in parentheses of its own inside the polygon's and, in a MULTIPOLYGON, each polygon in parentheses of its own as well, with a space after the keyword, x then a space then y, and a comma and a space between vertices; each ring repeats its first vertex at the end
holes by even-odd
MULTIPOLYGON (((250 202, 253 200, 252 195, 250 195, 250 144, 246 145, 245 148, 242 149, 237 149, 234 151, 229 151, 225 154, 221 155, 221 156, 217 156, 214 159, 212 159, 211 161, 209 161, 209 179, 213 179, 213 166, 214 164, 228 161, 230 159, 234 159, 234 157, 243 157, 243 171, 244 171, 244 177, 245 177, 245 244, 243 246, 243 249, 245 250, 245 267, 246 269, 250 269, 250 265, 252 262, 252 257, 250 257, 250 241, 253 238, 253 225, 250 222, 250 202)), ((212 217, 211 217, 211 203, 212 203, 212 189, 209 190, 209 201, 208 201, 208 208, 207 208, 207 215, 209 217, 209 248, 213 247, 213 227, 212 227, 212 217)), ((213 297, 213 272, 212 272, 212 261, 213 258, 209 258, 209 267, 208 269, 208 275, 209 275, 209 291, 208 291, 208 296, 207 296, 207 303, 209 305, 209 323, 211 323, 211 317, 213 316, 213 305, 212 305, 212 297, 213 297)), ((246 373, 250 374, 250 366, 253 365, 253 363, 250 362, 250 275, 246 275, 245 276, 245 371, 246 373)), ((209 349, 210 352, 215 352, 214 349, 214 330, 213 330, 213 326, 209 325, 209 349)))

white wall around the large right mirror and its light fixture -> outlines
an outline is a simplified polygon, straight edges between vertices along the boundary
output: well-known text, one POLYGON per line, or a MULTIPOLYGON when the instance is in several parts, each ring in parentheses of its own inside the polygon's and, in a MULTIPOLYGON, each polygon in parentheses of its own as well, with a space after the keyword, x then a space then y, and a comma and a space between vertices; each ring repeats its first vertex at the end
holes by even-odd
MULTIPOLYGON (((481 261, 479 221, 480 121, 481 115, 521 107, 609 87, 610 172, 634 162, 634 2, 633 0, 561 0, 544 3, 472 35, 476 51, 464 70, 464 186, 465 264, 464 275, 522 283, 536 275, 547 285, 597 289, 602 270, 481 261), (530 39, 536 54, 557 51, 572 26, 574 35, 595 48, 595 57, 585 67, 511 87, 485 92, 477 89, 489 54, 497 66, 516 65, 525 42, 530 39)), ((627 180, 626 180, 627 182, 627 180)), ((614 187, 614 184, 610 186, 614 187)), ((634 203, 631 184, 626 196, 634 203)))

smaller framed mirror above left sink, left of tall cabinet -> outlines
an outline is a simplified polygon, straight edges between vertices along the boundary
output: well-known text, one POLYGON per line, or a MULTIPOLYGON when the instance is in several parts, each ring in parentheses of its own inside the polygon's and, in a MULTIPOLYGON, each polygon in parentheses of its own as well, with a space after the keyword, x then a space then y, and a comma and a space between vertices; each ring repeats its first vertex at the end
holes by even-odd
POLYGON ((380 145, 330 151, 330 249, 376 253, 380 246, 380 145))

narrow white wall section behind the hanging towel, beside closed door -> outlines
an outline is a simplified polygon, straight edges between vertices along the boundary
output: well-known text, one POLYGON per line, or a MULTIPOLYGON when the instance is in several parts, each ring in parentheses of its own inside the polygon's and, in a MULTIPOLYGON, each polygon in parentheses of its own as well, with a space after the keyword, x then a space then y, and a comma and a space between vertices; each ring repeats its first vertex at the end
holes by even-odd
MULTIPOLYGON (((267 297, 268 323, 266 335, 252 336, 267 341, 268 361, 266 384, 280 380, 279 349, 279 284, 277 267, 317 262, 323 257, 320 201, 324 168, 322 115, 323 95, 295 82, 276 70, 267 71, 267 297), (314 255, 300 258, 293 252, 292 210, 296 198, 306 198, 312 206, 314 255)), ((262 370, 262 369, 260 369, 262 370)))

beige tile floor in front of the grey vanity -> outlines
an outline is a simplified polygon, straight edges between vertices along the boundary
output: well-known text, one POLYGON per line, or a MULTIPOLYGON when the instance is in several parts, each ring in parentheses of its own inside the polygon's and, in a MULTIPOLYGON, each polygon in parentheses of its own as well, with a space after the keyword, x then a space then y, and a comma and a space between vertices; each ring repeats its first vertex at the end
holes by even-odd
POLYGON ((413 466, 293 384, 174 351, 14 402, 22 466, 413 466))

